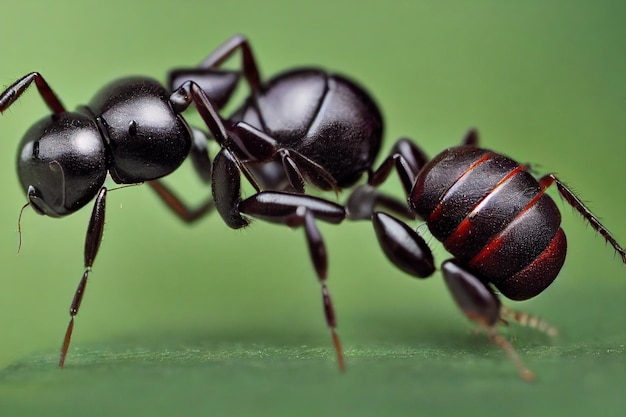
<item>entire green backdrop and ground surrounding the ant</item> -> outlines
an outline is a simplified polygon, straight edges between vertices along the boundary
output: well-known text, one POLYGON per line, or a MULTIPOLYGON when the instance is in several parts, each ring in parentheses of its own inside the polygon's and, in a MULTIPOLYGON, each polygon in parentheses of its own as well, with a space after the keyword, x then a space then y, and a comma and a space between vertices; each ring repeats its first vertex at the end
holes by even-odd
MULTIPOLYGON (((626 243, 623 1, 5 1, 0 16, 0 84, 40 71, 70 108, 116 77, 163 79, 244 33, 263 74, 316 65, 366 85, 386 148, 408 135, 435 155, 478 127, 485 147, 556 172, 626 243)), ((89 210, 27 211, 15 255, 16 145, 45 113, 33 90, 0 117, 0 415, 623 415, 625 269, 560 202, 566 265, 515 307, 562 335, 507 333, 534 384, 472 334, 438 274, 415 282, 390 265, 365 222, 321 226, 340 375, 301 231, 232 231, 218 216, 188 227, 146 187, 109 194, 57 370, 89 210)), ((208 192, 187 168, 171 183, 192 201, 208 192)))

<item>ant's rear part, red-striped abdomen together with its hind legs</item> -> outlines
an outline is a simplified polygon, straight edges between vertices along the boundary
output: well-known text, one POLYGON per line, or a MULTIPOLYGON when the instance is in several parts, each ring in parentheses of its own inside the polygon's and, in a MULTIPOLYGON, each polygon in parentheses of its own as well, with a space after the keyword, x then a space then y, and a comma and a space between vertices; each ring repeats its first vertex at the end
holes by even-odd
MULTIPOLYGON (((441 270, 457 305, 505 350, 523 378, 533 379, 534 374, 496 326, 514 320, 548 334, 556 334, 556 329, 502 306, 493 288, 512 300, 527 300, 558 275, 567 243, 560 212, 546 189, 555 184, 564 200, 613 246, 624 263, 626 251, 556 176, 537 180, 528 166, 477 145, 478 136, 470 131, 462 146, 427 162, 419 148, 402 142, 389 163, 370 177, 370 184, 379 185, 395 165, 411 210, 454 256, 443 262, 441 270)), ((431 250, 417 232, 380 211, 373 212, 372 221, 384 253, 399 269, 420 278, 435 272, 431 250)))

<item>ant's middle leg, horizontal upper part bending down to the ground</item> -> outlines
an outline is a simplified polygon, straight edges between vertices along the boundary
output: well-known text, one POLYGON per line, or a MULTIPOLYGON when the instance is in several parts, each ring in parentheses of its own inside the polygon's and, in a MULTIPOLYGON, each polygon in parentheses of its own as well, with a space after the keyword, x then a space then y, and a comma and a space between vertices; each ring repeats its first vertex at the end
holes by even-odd
POLYGON ((309 255, 322 289, 326 324, 330 329, 339 369, 344 371, 343 352, 336 331, 337 319, 326 285, 328 271, 326 246, 315 220, 340 223, 346 216, 345 209, 338 204, 317 197, 263 191, 243 200, 239 204, 239 210, 247 215, 290 227, 304 226, 309 255))

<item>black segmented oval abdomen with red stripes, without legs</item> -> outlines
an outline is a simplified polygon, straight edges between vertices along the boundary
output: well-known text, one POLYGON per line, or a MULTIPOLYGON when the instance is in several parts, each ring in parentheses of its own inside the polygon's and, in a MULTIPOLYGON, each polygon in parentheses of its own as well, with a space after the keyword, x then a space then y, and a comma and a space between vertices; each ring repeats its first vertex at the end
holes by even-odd
POLYGON ((448 149, 420 172, 409 201, 450 253, 509 298, 539 294, 565 260, 554 201, 503 155, 448 149))

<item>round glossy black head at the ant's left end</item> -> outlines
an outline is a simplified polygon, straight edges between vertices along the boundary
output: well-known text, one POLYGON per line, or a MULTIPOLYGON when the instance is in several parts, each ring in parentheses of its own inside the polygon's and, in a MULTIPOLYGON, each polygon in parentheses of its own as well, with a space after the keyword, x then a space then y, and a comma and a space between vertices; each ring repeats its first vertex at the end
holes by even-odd
POLYGON ((20 143, 17 172, 36 212, 60 217, 83 207, 107 175, 105 147, 93 119, 67 112, 41 119, 20 143))

